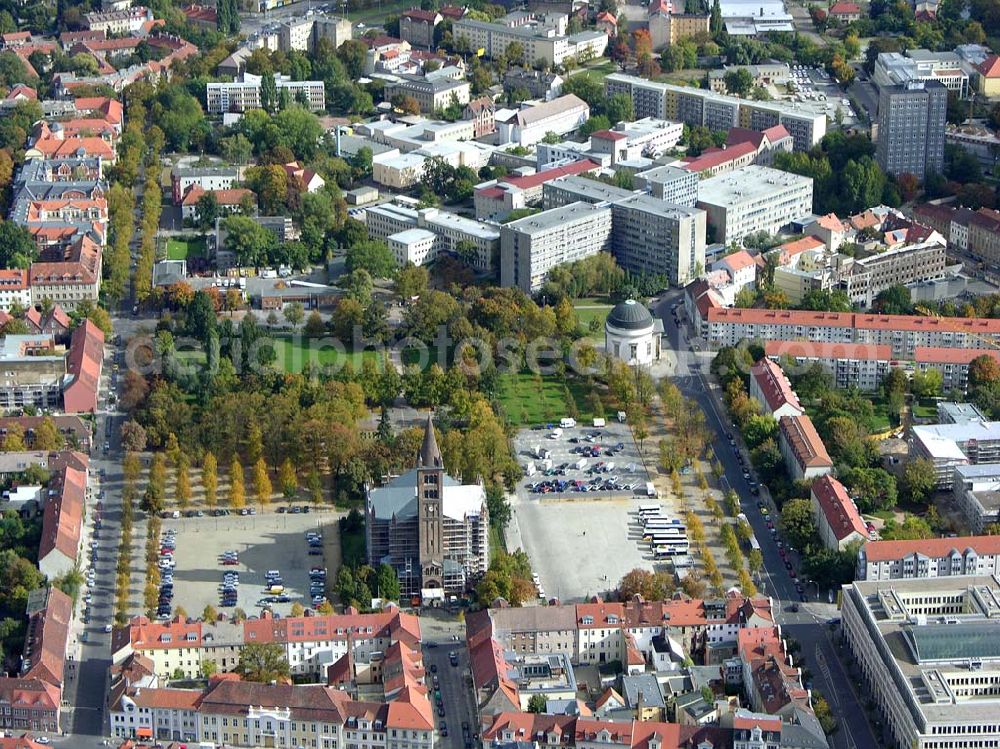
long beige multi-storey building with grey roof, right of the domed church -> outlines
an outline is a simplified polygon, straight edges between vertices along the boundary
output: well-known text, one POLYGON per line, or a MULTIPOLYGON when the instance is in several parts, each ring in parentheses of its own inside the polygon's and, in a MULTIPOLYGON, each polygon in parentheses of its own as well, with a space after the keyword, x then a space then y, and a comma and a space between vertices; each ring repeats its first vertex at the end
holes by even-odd
POLYGON ((898 247, 856 260, 840 279, 851 301, 871 307, 880 292, 895 284, 931 281, 944 276, 947 245, 943 237, 898 247))

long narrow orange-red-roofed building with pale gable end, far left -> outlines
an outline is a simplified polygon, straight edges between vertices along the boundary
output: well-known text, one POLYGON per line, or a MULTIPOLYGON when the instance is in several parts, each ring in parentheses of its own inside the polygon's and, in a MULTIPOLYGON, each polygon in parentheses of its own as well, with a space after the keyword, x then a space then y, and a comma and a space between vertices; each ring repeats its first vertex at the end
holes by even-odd
POLYGON ((49 486, 42 512, 42 538, 38 545, 38 569, 50 580, 76 566, 83 531, 83 505, 87 473, 65 468, 49 486))

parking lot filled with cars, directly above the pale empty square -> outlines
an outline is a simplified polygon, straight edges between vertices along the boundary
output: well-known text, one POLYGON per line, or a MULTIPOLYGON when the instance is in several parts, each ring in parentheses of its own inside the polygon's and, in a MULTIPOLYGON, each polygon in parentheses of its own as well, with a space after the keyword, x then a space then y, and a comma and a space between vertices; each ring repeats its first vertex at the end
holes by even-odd
POLYGON ((603 427, 522 429, 514 437, 514 451, 526 469, 517 488, 525 500, 639 496, 649 480, 628 425, 617 421, 603 427))

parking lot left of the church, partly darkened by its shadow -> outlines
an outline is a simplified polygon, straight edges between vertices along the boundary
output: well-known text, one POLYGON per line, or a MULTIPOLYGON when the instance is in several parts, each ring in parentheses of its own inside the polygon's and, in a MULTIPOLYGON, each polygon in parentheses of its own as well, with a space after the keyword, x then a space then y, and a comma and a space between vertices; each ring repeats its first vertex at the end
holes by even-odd
MULTIPOLYGON (((181 606, 189 616, 200 616, 207 604, 227 614, 239 607, 253 616, 261 612, 259 601, 277 594, 282 601, 271 603, 277 614, 287 616, 294 603, 310 608, 310 568, 328 566, 327 557, 334 560, 334 570, 339 562, 339 556, 334 556, 338 549, 336 518, 328 513, 182 518, 164 520, 163 530, 176 531, 172 603, 175 610, 181 606), (309 545, 309 532, 322 535, 321 545, 309 545), (236 552, 236 564, 223 564, 227 551, 236 552), (280 591, 265 590, 272 585, 267 579, 269 571, 280 574, 280 591), (233 572, 239 577, 235 605, 223 605, 223 577, 233 572)), ((331 582, 328 579, 327 585, 331 582)), ((225 603, 231 604, 232 599, 225 603)))

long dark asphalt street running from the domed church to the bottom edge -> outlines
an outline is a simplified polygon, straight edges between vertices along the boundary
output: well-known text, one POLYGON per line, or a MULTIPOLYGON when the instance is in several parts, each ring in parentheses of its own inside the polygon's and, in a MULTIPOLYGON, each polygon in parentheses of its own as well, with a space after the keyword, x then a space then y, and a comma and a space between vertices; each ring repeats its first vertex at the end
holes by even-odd
MULTIPOLYGON (((663 320, 664 334, 670 342, 669 348, 678 357, 674 381, 681 392, 694 399, 705 413, 708 427, 715 432, 715 453, 725 469, 729 484, 739 494, 740 506, 760 543, 764 570, 758 587, 761 593, 774 599, 776 622, 781 625, 785 635, 794 637, 802 646, 805 666, 812 674, 813 688, 827 698, 839 720, 839 730, 830 737, 831 746, 834 749, 875 749, 881 746, 881 742, 876 740, 871 725, 863 719, 865 713, 859 696, 838 657, 838 653, 843 651, 834 643, 835 626, 826 624, 829 619, 838 619, 836 608, 827 602, 829 591, 817 592, 818 586, 815 583, 806 583, 805 589, 811 594, 810 601, 802 603, 797 612, 790 609, 793 603, 799 601, 799 593, 795 580, 785 569, 784 560, 767 528, 767 521, 757 507, 757 497, 750 493, 750 487, 743 479, 743 468, 736 458, 736 452, 725 436, 729 433, 736 437, 739 449, 747 460, 746 449, 739 443, 738 433, 728 419, 724 418, 721 392, 710 382, 712 355, 704 351, 692 351, 687 330, 678 327, 671 315, 671 308, 675 304, 681 304, 678 312, 682 312, 682 301, 683 293, 672 291, 660 299, 654 311, 663 320)), ((704 346, 700 348, 703 349, 704 346)), ((775 517, 777 512, 766 494, 766 490, 761 491, 761 496, 769 505, 771 516, 775 517)))

